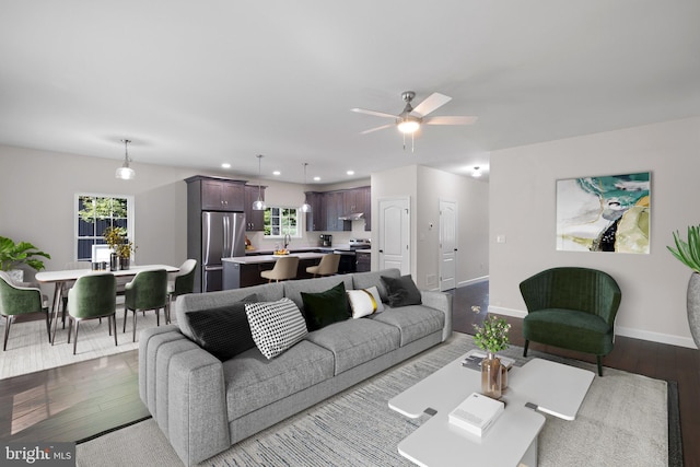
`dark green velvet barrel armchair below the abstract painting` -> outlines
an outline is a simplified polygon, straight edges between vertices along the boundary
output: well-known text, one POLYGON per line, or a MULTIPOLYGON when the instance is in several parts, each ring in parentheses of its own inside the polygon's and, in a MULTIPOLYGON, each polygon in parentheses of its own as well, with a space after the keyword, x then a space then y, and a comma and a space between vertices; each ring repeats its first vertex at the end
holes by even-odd
POLYGON ((620 306, 620 288, 606 272, 575 267, 552 268, 521 282, 527 306, 523 336, 527 355, 529 341, 602 358, 615 342, 615 317, 620 306))

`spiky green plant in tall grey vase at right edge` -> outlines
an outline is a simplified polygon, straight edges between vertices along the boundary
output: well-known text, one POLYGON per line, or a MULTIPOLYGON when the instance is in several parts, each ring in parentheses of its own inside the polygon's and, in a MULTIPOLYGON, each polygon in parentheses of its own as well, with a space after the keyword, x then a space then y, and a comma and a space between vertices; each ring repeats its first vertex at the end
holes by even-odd
POLYGON ((684 265, 692 270, 688 281, 687 312, 690 334, 700 349, 700 225, 688 226, 688 240, 680 237, 678 231, 673 233, 676 247, 668 250, 684 265))

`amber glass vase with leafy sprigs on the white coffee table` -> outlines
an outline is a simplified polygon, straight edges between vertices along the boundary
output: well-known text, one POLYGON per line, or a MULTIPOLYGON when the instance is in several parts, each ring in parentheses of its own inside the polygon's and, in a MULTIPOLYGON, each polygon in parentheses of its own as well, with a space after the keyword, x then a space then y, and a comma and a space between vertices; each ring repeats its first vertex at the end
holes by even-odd
POLYGON ((487 352, 487 358, 481 361, 481 392, 485 396, 498 399, 501 392, 508 386, 505 367, 501 366, 501 359, 495 353, 509 348, 511 341, 508 332, 511 325, 503 318, 489 316, 483 320, 483 326, 474 325, 474 343, 487 352), (503 377, 505 376, 505 384, 503 377))

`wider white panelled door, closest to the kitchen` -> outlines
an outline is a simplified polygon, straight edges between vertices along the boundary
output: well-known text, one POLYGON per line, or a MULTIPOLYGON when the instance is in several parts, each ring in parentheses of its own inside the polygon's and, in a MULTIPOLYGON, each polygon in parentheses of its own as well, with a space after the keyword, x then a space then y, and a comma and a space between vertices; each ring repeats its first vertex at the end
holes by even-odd
POLYGON ((380 269, 397 268, 401 275, 411 273, 409 207, 409 198, 380 200, 380 269))

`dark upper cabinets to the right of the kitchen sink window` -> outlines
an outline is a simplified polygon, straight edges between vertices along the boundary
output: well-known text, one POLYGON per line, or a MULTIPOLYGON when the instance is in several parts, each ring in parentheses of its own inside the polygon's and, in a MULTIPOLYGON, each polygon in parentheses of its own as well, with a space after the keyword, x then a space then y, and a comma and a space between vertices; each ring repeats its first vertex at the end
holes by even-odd
POLYGON ((364 230, 372 229, 372 198, 370 187, 335 191, 308 191, 312 212, 306 214, 306 231, 340 232, 352 230, 351 221, 340 218, 362 214, 364 230))

